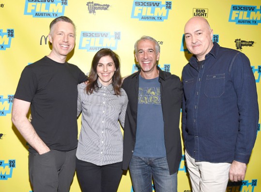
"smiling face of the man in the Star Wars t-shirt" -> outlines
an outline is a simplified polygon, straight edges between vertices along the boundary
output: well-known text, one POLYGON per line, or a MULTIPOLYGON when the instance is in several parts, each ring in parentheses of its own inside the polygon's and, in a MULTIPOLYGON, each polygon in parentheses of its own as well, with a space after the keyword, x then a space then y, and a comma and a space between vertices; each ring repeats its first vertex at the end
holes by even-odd
POLYGON ((150 73, 157 70, 157 60, 160 53, 156 54, 155 43, 150 40, 140 40, 137 44, 138 52, 135 58, 142 73, 150 73))

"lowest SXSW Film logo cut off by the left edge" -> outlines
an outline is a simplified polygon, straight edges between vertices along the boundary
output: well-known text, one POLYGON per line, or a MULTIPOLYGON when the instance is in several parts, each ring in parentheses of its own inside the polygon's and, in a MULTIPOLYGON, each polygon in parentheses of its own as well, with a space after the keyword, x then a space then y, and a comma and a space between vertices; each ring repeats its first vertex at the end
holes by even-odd
POLYGON ((12 177, 15 168, 15 160, 8 160, 7 163, 0 160, 0 180, 7 180, 12 177))

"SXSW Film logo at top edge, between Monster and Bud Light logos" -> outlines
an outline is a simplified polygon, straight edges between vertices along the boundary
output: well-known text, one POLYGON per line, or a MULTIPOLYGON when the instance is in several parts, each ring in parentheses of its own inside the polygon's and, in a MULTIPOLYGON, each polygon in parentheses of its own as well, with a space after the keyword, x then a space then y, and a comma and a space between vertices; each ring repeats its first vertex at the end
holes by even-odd
POLYGON ((134 0, 131 18, 138 18, 140 21, 164 21, 168 19, 169 10, 172 8, 172 1, 144 1, 134 0))

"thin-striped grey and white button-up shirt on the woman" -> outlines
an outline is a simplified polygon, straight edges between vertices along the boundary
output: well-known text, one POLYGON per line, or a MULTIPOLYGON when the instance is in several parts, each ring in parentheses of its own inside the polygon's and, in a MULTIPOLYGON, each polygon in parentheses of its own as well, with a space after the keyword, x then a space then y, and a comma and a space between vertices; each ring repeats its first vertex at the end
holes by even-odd
POLYGON ((124 89, 115 95, 112 84, 98 81, 99 89, 86 93, 84 83, 78 85, 77 116, 81 115, 81 131, 76 156, 98 166, 122 162, 124 119, 128 97, 124 89))

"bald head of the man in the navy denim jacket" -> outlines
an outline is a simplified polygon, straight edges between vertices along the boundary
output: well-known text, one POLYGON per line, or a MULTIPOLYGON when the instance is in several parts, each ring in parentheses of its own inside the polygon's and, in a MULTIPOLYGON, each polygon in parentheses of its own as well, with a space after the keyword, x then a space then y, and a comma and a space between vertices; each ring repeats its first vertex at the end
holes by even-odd
POLYGON ((209 28, 205 20, 192 18, 186 23, 184 34, 187 49, 193 53, 198 60, 204 60, 205 55, 208 54, 213 47, 213 30, 209 28))

